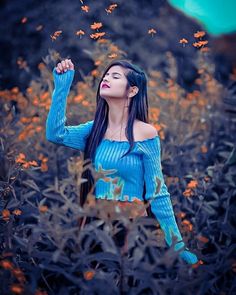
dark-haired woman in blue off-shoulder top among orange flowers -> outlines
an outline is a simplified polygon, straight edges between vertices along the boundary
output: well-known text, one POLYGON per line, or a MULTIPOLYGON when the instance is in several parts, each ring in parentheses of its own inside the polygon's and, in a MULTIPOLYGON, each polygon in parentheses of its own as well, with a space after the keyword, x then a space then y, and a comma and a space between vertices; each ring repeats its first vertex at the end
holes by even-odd
MULTIPOLYGON (((54 91, 46 122, 47 140, 84 152, 96 171, 105 177, 97 180, 97 201, 130 205, 134 200, 150 201, 154 215, 165 233, 165 241, 189 264, 197 256, 186 248, 175 220, 170 194, 161 170, 160 137, 148 124, 147 78, 137 66, 126 60, 112 62, 105 70, 97 90, 94 120, 78 126, 65 126, 66 100, 74 77, 70 59, 53 69, 54 91)), ((94 183, 90 169, 82 178, 81 205, 94 183)))

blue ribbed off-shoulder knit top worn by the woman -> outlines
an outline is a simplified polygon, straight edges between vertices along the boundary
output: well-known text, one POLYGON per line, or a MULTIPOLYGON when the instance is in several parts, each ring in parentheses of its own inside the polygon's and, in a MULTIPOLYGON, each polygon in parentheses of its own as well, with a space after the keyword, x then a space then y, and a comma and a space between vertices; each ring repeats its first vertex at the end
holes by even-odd
MULTIPOLYGON (((53 77, 55 88, 46 120, 46 138, 53 143, 84 152, 86 139, 94 121, 87 121, 77 126, 65 126, 67 96, 74 70, 58 74, 54 68, 53 77)), ((115 199, 120 202, 132 202, 135 198, 143 200, 145 182, 145 199, 150 200, 151 210, 165 233, 166 243, 171 246, 172 235, 177 236, 179 243, 175 245, 175 251, 181 249, 179 255, 182 259, 189 264, 196 263, 197 256, 191 253, 182 241, 170 194, 164 182, 160 137, 157 135, 136 141, 133 150, 120 159, 128 148, 128 141, 102 139, 96 150, 94 167, 96 171, 105 172, 105 177, 96 182, 95 197, 115 199)))

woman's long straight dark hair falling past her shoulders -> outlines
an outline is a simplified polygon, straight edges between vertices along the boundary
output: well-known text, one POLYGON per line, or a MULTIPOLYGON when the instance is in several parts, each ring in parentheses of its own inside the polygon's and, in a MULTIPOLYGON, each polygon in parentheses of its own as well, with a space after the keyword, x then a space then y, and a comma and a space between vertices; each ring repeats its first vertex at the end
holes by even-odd
MULTIPOLYGON (((148 97, 147 97, 147 77, 145 72, 140 69, 138 66, 132 64, 128 60, 116 60, 108 65, 105 69, 105 72, 99 82, 98 90, 97 90, 97 99, 96 99, 96 112, 95 118, 93 122, 93 127, 91 132, 87 138, 85 150, 84 150, 84 162, 86 165, 90 162, 94 162, 95 153, 97 146, 102 141, 107 126, 108 126, 108 110, 109 106, 104 98, 100 96, 100 84, 107 71, 112 66, 121 66, 125 69, 125 76, 128 80, 127 89, 130 86, 137 86, 139 88, 138 93, 132 97, 131 102, 128 108, 128 124, 125 129, 125 134, 130 143, 129 150, 122 155, 122 157, 126 156, 134 146, 134 138, 133 138, 133 124, 134 120, 138 119, 145 123, 148 123, 148 97)), ((87 199, 88 193, 91 192, 92 185, 94 184, 94 178, 92 176, 90 168, 86 169, 82 173, 82 178, 87 179, 87 182, 81 184, 80 187, 80 205, 83 206, 87 199)), ((144 186, 143 195, 146 192, 146 188, 144 186)), ((94 193, 94 191, 92 192, 94 193)))

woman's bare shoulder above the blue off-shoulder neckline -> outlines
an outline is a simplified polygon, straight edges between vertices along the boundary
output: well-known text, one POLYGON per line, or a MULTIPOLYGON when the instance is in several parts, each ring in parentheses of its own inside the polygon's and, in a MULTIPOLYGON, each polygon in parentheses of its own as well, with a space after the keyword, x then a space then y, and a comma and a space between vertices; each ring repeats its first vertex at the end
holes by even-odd
POLYGON ((136 141, 153 138, 158 135, 156 128, 149 123, 135 120, 134 124, 134 138, 136 141))

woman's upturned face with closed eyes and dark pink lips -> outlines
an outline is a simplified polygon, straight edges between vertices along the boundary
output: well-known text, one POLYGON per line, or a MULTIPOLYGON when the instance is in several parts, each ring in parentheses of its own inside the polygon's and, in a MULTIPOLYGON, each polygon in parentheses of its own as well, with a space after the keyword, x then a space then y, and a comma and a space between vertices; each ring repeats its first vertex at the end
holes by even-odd
POLYGON ((121 66, 112 66, 100 84, 100 96, 104 99, 127 98, 127 84, 125 69, 121 66))

